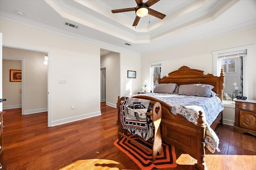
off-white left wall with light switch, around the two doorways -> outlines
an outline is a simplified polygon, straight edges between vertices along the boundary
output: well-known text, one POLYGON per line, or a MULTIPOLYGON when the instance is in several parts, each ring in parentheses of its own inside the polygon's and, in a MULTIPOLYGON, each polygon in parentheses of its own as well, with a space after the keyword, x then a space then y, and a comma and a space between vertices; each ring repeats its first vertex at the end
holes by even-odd
MULTIPOLYGON (((76 121, 87 117, 100 115, 100 47, 34 29, 24 25, 0 20, 0 32, 3 35, 3 45, 20 47, 47 52, 49 58, 49 87, 50 93, 48 111, 48 126, 76 121), (58 84, 58 80, 66 80, 66 84, 58 84), (74 109, 71 109, 71 106, 74 109)), ((132 53, 120 53, 120 95, 127 90, 140 90, 140 56, 132 53), (126 86, 130 79, 127 70, 136 70, 137 78, 126 86), (135 87, 135 88, 132 88, 135 87)))

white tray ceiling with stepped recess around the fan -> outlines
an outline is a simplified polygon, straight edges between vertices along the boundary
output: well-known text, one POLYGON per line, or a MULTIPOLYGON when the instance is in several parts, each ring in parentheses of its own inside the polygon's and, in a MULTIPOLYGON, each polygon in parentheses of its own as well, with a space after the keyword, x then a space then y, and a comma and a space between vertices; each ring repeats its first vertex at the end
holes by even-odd
POLYGON ((166 17, 148 15, 136 27, 135 12, 111 12, 136 6, 135 0, 0 0, 0 19, 142 55, 256 26, 256 0, 160 0, 150 8, 166 17))

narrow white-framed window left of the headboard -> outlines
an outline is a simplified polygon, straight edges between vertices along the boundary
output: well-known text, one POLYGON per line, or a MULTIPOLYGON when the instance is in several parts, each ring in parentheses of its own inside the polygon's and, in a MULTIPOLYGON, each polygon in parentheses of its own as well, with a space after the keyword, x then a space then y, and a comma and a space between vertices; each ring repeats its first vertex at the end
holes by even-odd
POLYGON ((162 74, 162 66, 163 63, 159 62, 159 63, 151 63, 150 64, 150 76, 151 76, 151 89, 152 91, 154 90, 154 86, 156 86, 158 84, 158 75, 161 76, 162 74))

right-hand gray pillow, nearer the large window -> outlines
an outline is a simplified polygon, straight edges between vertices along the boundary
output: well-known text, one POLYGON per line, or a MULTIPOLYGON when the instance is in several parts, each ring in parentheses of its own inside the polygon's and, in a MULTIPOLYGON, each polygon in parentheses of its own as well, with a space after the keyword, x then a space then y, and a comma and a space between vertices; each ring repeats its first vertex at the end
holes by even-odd
POLYGON ((212 97, 212 89, 214 86, 209 84, 183 84, 180 85, 176 93, 187 96, 212 97))

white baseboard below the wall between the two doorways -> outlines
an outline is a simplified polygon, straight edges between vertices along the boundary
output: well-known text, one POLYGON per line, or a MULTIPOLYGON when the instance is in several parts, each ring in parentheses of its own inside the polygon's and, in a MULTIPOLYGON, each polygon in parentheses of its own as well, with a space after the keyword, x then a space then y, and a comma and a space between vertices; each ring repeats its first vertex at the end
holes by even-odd
POLYGON ((52 121, 51 126, 62 125, 62 124, 65 124, 65 123, 70 123, 70 122, 73 122, 73 121, 87 119, 87 118, 95 117, 95 116, 99 116, 99 115, 101 115, 101 111, 94 112, 94 113, 89 113, 89 114, 86 114, 86 115, 80 115, 80 116, 76 116, 76 117, 70 117, 70 118, 67 118, 67 119, 52 121))

